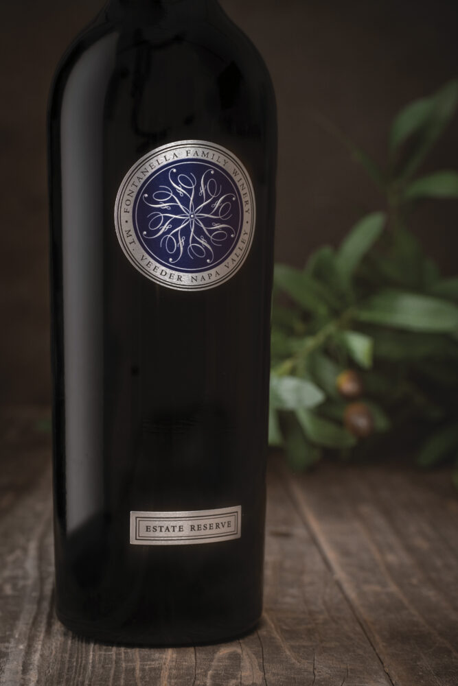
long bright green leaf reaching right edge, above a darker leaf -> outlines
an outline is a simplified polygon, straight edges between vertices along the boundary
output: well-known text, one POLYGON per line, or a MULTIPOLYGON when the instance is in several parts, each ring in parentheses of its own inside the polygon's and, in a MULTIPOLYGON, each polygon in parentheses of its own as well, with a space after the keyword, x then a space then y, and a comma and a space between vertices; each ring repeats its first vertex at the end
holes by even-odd
POLYGON ((446 300, 405 293, 380 291, 355 308, 356 318, 371 324, 447 333, 458 329, 458 307, 446 300))

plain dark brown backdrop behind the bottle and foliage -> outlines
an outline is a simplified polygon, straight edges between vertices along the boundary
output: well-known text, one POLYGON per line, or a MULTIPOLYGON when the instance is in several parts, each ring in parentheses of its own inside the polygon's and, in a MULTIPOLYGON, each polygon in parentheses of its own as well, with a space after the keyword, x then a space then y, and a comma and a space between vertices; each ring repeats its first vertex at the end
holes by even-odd
MULTIPOLYGON (((277 93, 277 261, 304 263, 383 199, 339 143, 332 119, 380 163, 400 107, 458 75, 458 2, 221 0, 263 54, 277 93)), ((103 0, 16 0, 1 7, 0 402, 49 403, 45 112, 62 51, 103 0)), ((453 122, 423 171, 457 168, 453 122)), ((427 202, 415 229, 456 271, 458 202, 427 202)))

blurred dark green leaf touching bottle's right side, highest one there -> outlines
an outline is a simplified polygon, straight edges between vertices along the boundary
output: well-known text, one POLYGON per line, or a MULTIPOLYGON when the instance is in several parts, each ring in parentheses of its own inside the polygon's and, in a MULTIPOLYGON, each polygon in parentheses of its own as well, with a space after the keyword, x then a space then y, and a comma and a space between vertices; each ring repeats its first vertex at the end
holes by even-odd
POLYGON ((284 264, 275 265, 274 281, 277 287, 312 314, 325 315, 329 305, 339 307, 339 302, 321 283, 293 267, 284 264))

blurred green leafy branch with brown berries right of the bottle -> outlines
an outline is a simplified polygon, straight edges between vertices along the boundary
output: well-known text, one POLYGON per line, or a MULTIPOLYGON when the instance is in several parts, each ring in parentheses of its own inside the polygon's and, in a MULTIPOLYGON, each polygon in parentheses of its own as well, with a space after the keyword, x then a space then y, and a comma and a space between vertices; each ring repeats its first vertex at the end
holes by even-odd
POLYGON ((364 455, 382 435, 396 449, 415 427, 419 464, 455 460, 458 484, 458 276, 444 279, 407 228, 425 198, 458 199, 457 171, 413 178, 457 106, 453 81, 405 107, 387 169, 321 122, 387 209, 363 217, 339 248, 319 248, 303 270, 275 265, 269 442, 293 469, 325 448, 364 455))

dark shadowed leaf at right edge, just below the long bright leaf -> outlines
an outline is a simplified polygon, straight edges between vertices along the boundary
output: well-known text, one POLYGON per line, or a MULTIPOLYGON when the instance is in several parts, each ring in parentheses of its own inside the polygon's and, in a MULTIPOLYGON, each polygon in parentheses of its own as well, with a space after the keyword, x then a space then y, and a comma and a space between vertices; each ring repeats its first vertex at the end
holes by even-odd
POLYGON ((458 357, 458 344, 437 333, 374 332, 374 352, 378 359, 393 362, 421 360, 428 357, 458 357))

